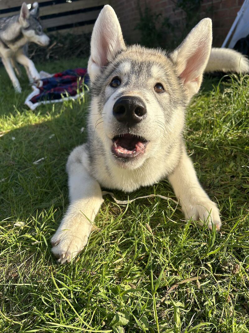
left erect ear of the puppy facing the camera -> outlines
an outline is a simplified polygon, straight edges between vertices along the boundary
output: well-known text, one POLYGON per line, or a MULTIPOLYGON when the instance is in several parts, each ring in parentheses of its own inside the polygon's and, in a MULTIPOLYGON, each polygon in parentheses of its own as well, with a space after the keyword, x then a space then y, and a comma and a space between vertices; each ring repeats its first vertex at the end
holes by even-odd
POLYGON ((117 52, 124 49, 124 39, 117 15, 111 6, 105 5, 93 27, 91 54, 87 67, 90 79, 93 80, 101 67, 107 66, 117 52))

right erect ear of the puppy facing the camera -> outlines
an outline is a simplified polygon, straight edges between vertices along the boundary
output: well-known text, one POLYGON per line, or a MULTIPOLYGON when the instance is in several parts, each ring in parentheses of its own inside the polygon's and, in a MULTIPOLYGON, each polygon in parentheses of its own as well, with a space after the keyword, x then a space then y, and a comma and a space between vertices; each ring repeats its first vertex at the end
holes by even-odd
POLYGON ((188 34, 178 48, 171 53, 177 65, 179 77, 183 80, 189 100, 202 84, 212 45, 212 21, 201 20, 188 34))

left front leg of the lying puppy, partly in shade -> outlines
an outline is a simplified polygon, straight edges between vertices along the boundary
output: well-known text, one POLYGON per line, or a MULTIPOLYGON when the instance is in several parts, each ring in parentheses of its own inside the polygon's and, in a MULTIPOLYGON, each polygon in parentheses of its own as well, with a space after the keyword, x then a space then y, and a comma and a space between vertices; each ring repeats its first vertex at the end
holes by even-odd
MULTIPOLYGON (((84 146, 84 145, 83 145, 84 146)), ((52 252, 60 263, 70 262, 87 244, 93 221, 101 203, 99 183, 88 173, 82 160, 86 160, 84 147, 74 149, 67 162, 70 205, 60 226, 51 239, 52 252)))

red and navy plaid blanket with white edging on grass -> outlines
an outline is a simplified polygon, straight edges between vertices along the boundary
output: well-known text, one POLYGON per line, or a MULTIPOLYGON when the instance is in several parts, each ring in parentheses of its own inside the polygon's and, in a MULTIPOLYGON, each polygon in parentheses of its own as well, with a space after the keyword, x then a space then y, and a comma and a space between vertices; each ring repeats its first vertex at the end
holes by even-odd
POLYGON ((43 79, 32 86, 33 92, 25 100, 31 110, 40 104, 77 99, 84 94, 84 85, 89 81, 86 68, 67 69, 53 75, 45 72, 40 74, 43 79))

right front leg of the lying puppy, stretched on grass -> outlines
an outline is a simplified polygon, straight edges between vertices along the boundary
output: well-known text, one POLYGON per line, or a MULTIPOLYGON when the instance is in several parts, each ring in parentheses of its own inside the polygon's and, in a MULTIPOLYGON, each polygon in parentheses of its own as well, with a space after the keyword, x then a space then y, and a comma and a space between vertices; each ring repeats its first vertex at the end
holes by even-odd
POLYGON ((178 166, 169 175, 169 181, 176 196, 180 199, 187 219, 190 217, 195 220, 200 219, 207 223, 209 229, 212 229, 212 223, 217 230, 220 229, 219 210, 199 184, 195 169, 185 149, 178 166))

